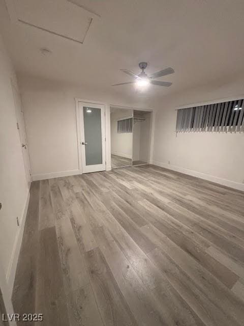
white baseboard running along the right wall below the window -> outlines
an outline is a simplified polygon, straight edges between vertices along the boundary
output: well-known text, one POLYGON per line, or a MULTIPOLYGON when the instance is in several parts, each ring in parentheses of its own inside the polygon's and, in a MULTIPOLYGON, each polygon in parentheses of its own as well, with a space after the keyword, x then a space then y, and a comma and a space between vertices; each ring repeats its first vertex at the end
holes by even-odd
POLYGON ((231 180, 227 180, 227 179, 222 179, 222 178, 215 177, 215 176, 205 174, 205 173, 202 173, 202 172, 197 172, 197 171, 192 171, 192 170, 181 168, 181 167, 176 167, 174 165, 165 164, 163 162, 156 161, 156 160, 151 160, 150 164, 154 164, 154 165, 157 165, 157 166, 165 168, 165 169, 169 169, 169 170, 181 172, 181 173, 184 173, 184 174, 188 174, 188 175, 191 175, 193 177, 197 177, 197 178, 204 179, 204 180, 207 180, 207 181, 219 183, 219 184, 225 185, 227 187, 234 188, 234 189, 237 189, 237 190, 240 190, 240 191, 244 192, 244 184, 243 183, 239 183, 239 182, 235 182, 235 181, 231 181, 231 180))

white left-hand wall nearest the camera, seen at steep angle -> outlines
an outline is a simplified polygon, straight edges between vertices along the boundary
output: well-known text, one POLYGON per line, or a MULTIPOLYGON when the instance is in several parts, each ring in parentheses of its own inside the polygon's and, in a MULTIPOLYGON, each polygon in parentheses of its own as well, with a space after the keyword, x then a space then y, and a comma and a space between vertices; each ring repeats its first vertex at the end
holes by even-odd
MULTIPOLYGON (((0 36, 0 286, 4 298, 11 296, 13 277, 19 254, 21 230, 25 220, 29 189, 25 178, 11 78, 17 87, 13 66, 0 36), (18 227, 16 218, 22 220, 18 227), (6 293, 9 291, 9 293, 6 293)), ((11 311, 11 303, 5 302, 11 311)))

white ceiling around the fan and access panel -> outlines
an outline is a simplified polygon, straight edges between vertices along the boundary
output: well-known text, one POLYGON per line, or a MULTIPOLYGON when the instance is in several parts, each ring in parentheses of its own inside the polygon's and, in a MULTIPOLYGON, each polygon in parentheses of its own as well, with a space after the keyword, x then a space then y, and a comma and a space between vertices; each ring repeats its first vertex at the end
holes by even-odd
POLYGON ((12 23, 0 0, 0 30, 17 72, 142 100, 244 74, 243 0, 72 2, 97 17, 83 44, 12 23), (43 56, 43 47, 52 55, 43 56), (138 73, 140 61, 148 62, 149 74, 173 67, 175 74, 159 78, 173 85, 151 86, 144 94, 131 85, 110 86, 131 81, 119 69, 138 73))

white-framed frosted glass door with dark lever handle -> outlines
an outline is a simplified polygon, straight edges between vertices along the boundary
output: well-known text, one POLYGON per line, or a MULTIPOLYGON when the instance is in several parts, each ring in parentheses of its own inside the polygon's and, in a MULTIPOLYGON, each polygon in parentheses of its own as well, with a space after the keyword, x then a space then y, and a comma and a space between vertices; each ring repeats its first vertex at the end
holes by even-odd
POLYGON ((103 105, 80 102, 82 172, 105 170, 105 120, 103 105))

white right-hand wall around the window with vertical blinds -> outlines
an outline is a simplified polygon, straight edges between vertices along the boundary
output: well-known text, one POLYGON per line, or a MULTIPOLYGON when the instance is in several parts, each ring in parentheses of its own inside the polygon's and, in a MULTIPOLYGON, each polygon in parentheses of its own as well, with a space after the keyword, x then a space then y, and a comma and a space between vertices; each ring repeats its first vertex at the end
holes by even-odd
POLYGON ((153 163, 244 190, 243 133, 186 132, 177 133, 177 138, 175 133, 177 106, 240 94, 243 79, 234 79, 163 99, 157 104, 153 163))

